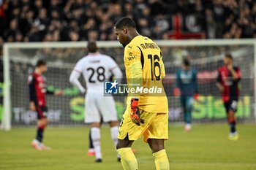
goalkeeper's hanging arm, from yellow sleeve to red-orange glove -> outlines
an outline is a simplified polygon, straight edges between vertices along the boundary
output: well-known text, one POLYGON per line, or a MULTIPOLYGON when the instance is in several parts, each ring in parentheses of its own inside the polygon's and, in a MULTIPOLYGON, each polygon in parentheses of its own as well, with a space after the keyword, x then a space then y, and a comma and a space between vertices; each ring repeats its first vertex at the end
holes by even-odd
MULTIPOLYGON (((142 85, 142 80, 143 80, 143 71, 142 71, 142 65, 140 62, 140 57, 141 52, 140 49, 136 46, 133 47, 126 47, 125 54, 129 54, 129 56, 126 56, 124 62, 129 63, 129 69, 131 72, 131 83, 132 87, 131 88, 137 88, 138 86, 141 87, 142 85), (130 59, 128 59, 130 58, 130 59)), ((140 111, 138 108, 138 103, 139 103, 139 93, 132 93, 132 98, 131 98, 131 114, 130 117, 132 119, 132 122, 135 123, 136 125, 140 125, 140 123, 144 123, 143 119, 140 119, 140 111)))

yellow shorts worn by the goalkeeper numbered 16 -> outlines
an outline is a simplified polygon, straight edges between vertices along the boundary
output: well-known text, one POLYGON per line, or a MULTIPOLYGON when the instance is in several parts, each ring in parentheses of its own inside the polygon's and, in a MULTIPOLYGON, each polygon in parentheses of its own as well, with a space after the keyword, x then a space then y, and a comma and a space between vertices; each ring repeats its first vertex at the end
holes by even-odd
POLYGON ((127 107, 119 126, 118 139, 135 141, 143 135, 143 141, 148 139, 168 139, 168 114, 152 113, 140 109, 140 118, 145 123, 136 125, 129 116, 131 109, 127 107))

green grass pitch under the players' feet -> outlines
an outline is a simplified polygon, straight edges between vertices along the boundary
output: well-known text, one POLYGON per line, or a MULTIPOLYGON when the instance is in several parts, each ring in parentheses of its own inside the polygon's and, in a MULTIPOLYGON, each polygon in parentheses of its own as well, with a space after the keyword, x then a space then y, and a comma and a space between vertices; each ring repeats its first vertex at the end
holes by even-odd
MULTIPOLYGON (((192 133, 182 127, 170 126, 170 140, 166 142, 171 170, 255 170, 256 126, 238 125, 240 139, 227 140, 227 125, 195 125, 192 133)), ((1 170, 121 170, 110 139, 109 128, 102 128, 103 163, 94 163, 86 155, 89 128, 48 128, 45 144, 50 151, 31 148, 35 130, 15 128, 0 131, 1 170)), ((138 151, 140 170, 154 168, 154 160, 147 144, 140 139, 133 147, 138 151)))

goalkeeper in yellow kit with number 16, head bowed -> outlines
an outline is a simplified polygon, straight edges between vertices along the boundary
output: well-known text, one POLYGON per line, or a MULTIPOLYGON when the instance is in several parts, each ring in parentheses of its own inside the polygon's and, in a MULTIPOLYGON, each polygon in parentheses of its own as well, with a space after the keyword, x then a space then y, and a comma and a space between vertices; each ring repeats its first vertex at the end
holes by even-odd
POLYGON ((114 28, 124 46, 124 65, 129 90, 127 109, 119 127, 118 144, 125 170, 138 170, 132 143, 143 135, 154 156, 157 170, 168 170, 164 141, 168 139, 168 104, 162 78, 165 66, 158 45, 136 31, 131 18, 121 18, 114 28), (148 90, 151 89, 151 90, 148 90), (150 93, 151 92, 151 93, 150 93))

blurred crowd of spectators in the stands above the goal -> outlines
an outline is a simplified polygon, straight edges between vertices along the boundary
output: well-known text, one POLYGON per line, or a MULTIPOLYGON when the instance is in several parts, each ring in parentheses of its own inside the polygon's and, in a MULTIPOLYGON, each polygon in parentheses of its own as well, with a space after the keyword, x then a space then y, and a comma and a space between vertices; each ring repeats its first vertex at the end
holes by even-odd
POLYGON ((181 32, 203 38, 256 37, 255 0, 0 0, 0 46, 114 40, 113 25, 123 16, 134 18, 140 34, 152 39, 170 39, 175 16, 181 17, 181 32))

